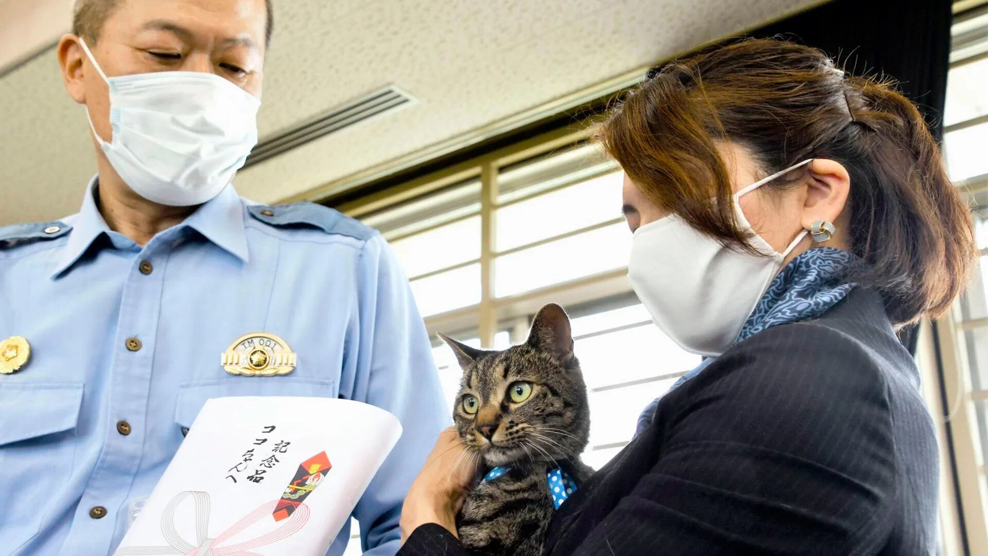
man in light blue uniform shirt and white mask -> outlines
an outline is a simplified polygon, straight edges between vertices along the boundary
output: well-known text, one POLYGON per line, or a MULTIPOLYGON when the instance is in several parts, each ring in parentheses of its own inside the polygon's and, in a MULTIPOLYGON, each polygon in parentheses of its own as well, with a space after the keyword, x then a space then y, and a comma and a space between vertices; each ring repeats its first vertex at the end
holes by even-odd
POLYGON ((257 138, 270 5, 79 0, 75 16, 58 58, 99 174, 78 214, 0 229, 0 554, 111 553, 204 402, 259 395, 401 419, 354 511, 364 549, 393 554, 446 404, 380 235, 229 185, 257 138))

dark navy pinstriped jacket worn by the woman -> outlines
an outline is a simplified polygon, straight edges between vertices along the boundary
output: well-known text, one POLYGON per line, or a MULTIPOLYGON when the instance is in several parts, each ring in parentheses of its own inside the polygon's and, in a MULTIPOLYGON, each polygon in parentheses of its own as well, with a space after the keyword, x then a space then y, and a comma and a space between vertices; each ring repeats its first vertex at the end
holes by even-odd
MULTIPOLYGON (((577 345, 579 349, 579 345, 577 345)), ((545 554, 934 554, 938 451, 881 299, 769 328, 670 392, 574 493, 545 554)), ((400 554, 466 554, 423 525, 400 554)))

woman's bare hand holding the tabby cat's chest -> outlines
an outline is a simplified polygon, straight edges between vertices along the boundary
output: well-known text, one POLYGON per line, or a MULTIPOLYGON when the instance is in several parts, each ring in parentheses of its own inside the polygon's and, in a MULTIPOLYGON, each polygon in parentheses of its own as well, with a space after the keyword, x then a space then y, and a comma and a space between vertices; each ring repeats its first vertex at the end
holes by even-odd
POLYGON ((439 435, 401 509, 401 542, 419 525, 439 523, 456 534, 456 513, 473 480, 477 458, 468 453, 453 427, 439 435))

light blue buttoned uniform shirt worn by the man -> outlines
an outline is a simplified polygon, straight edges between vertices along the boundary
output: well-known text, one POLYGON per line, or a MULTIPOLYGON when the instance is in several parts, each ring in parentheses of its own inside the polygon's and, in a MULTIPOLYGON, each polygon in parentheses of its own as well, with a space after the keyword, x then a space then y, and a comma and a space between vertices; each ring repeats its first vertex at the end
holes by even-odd
POLYGON ((0 229, 0 340, 31 344, 22 369, 0 374, 0 554, 111 553, 128 503, 150 494, 206 400, 262 395, 357 400, 401 420, 354 510, 364 549, 394 554, 405 493, 449 417, 385 241, 330 209, 253 205, 230 186, 142 247, 107 227, 95 191, 94 179, 61 222, 0 229), (294 370, 225 372, 222 352, 250 332, 284 339, 294 370))

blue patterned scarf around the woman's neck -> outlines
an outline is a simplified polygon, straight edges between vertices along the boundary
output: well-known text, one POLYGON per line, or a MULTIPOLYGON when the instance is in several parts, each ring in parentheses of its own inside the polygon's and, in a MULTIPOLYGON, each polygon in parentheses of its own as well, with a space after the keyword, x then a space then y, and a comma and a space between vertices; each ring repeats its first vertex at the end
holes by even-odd
MULTIPOLYGON (((769 286, 769 291, 741 327, 735 344, 762 330, 779 324, 798 323, 816 319, 847 297, 856 284, 843 281, 844 276, 858 257, 834 247, 809 249, 785 265, 769 286)), ((669 391, 700 374, 714 357, 703 359, 700 365, 680 377, 669 391)), ((638 417, 637 436, 651 424, 659 399, 648 405, 638 417)))

